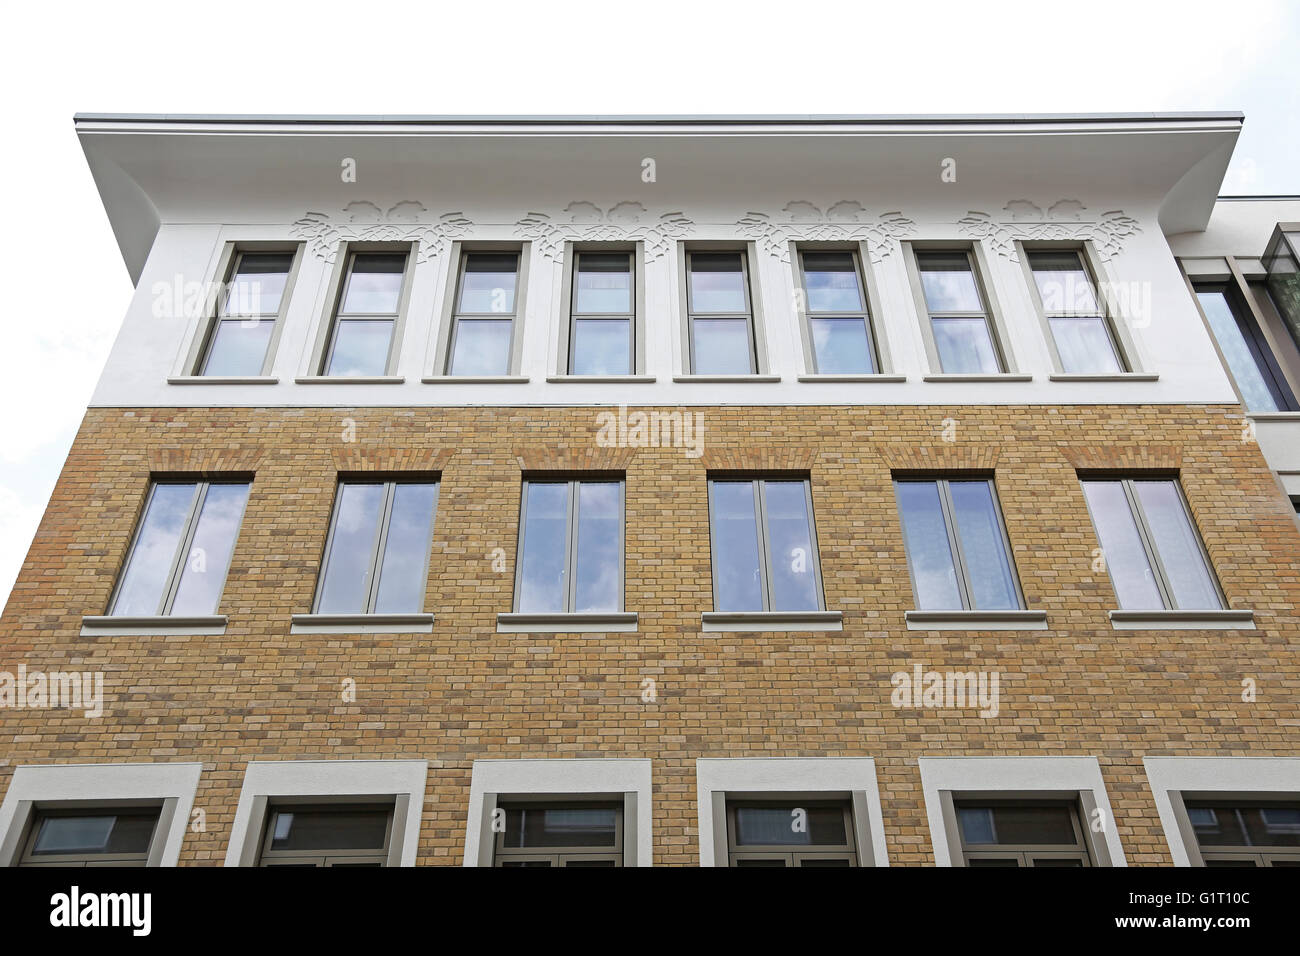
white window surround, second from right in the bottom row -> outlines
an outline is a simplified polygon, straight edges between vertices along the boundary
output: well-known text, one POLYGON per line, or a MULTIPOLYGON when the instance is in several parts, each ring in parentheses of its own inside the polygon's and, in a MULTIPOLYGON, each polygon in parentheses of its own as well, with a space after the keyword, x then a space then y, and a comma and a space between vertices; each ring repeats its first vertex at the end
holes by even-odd
POLYGON ((979 797, 1078 799, 1083 826, 1098 866, 1127 866, 1106 784, 1096 757, 920 757, 920 788, 930 818, 936 866, 963 866, 961 838, 952 812, 953 795, 979 797), (946 806, 946 809, 945 809, 946 806), (1098 835, 1096 819, 1105 821, 1098 835))

